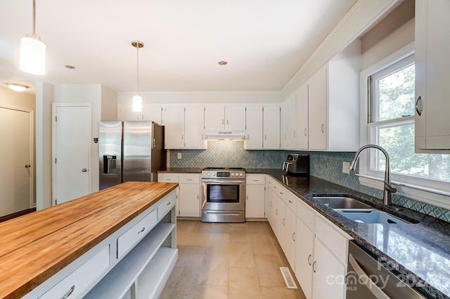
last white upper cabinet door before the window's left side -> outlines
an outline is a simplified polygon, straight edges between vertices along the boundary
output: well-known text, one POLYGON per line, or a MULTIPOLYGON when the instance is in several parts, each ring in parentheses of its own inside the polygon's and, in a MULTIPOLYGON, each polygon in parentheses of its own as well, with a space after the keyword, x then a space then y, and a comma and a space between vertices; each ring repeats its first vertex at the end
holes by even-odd
POLYGON ((308 80, 309 149, 327 149, 327 79, 326 68, 318 70, 308 80))

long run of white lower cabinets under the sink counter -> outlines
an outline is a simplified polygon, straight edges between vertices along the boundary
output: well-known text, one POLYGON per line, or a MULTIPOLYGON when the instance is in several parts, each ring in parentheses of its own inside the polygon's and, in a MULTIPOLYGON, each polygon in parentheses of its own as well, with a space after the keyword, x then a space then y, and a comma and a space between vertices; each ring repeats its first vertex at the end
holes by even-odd
POLYGON ((269 224, 307 299, 345 298, 351 237, 268 177, 269 224))

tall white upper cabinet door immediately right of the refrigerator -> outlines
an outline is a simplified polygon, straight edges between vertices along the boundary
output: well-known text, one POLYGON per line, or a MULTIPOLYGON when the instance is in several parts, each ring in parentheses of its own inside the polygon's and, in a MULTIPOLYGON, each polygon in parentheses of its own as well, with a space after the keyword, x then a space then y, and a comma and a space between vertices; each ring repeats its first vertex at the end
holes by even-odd
POLYGON ((162 110, 165 148, 184 148, 184 107, 167 106, 162 110))

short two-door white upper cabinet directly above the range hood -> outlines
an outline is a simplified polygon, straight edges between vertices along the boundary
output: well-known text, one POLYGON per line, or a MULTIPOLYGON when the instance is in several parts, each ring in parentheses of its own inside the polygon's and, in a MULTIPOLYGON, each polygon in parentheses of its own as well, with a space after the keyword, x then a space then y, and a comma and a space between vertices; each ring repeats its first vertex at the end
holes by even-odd
POLYGON ((206 131, 245 131, 245 106, 205 106, 206 131))

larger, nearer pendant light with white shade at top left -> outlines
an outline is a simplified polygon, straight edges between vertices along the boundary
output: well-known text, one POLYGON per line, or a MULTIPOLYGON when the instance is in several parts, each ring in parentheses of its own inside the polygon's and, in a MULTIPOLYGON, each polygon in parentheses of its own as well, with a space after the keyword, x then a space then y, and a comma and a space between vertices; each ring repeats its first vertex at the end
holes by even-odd
POLYGON ((36 34, 36 0, 33 0, 33 33, 20 39, 20 70, 45 75, 45 51, 45 44, 36 34))

